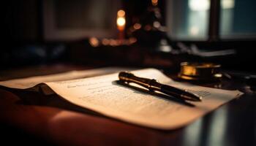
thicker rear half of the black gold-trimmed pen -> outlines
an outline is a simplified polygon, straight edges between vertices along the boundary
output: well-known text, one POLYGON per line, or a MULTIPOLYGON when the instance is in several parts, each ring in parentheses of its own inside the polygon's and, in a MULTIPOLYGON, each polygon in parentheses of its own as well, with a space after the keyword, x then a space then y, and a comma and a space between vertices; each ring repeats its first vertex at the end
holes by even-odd
POLYGON ((147 79, 143 77, 136 77, 134 74, 129 72, 120 72, 118 74, 119 80, 123 82, 134 82, 150 91, 159 91, 161 89, 161 84, 154 79, 147 79))

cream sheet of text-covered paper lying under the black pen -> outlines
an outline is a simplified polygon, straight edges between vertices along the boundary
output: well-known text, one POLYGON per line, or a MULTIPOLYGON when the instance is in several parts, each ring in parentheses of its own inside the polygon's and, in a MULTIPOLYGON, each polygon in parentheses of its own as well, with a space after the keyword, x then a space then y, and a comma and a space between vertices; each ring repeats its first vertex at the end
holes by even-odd
MULTIPOLYGON (((200 102, 181 102, 171 96, 148 92, 146 88, 138 85, 132 85, 133 88, 130 88, 118 83, 118 73, 75 80, 47 81, 44 85, 63 99, 80 107, 127 123, 165 130, 186 126, 243 94, 240 91, 175 82, 157 69, 140 69, 132 73, 139 77, 157 79, 176 88, 187 89, 199 94, 203 99, 200 102)), ((7 82, 0 82, 0 85, 9 85, 11 88, 21 87, 13 80, 10 84, 7 82)))

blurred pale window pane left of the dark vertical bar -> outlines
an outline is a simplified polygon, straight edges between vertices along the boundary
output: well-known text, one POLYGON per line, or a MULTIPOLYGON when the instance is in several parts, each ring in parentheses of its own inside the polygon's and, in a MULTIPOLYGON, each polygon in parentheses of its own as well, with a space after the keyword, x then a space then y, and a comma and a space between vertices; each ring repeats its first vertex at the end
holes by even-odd
POLYGON ((167 28, 173 39, 208 39, 210 0, 167 1, 167 28))

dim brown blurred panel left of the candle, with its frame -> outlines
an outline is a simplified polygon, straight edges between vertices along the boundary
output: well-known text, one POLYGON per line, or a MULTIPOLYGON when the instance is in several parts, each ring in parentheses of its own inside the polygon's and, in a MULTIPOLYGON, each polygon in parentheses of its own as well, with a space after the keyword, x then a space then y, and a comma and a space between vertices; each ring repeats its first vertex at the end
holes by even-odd
POLYGON ((44 0, 45 40, 113 37, 119 0, 44 0))

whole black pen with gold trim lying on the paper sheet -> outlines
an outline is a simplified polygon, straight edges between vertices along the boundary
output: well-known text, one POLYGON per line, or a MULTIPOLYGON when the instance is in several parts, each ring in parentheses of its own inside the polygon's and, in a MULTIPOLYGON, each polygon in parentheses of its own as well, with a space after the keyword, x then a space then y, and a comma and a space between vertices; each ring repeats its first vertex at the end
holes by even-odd
POLYGON ((174 96, 179 99, 189 100, 189 101, 201 101, 201 97, 197 96, 194 93, 175 88, 170 85, 164 85, 159 83, 157 80, 148 79, 143 77, 136 77, 134 74, 129 72, 119 72, 119 80, 123 82, 134 82, 138 85, 141 85, 145 88, 148 88, 149 91, 159 91, 170 96, 174 96))

